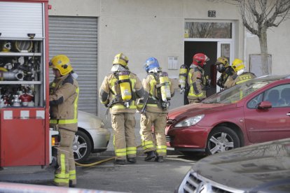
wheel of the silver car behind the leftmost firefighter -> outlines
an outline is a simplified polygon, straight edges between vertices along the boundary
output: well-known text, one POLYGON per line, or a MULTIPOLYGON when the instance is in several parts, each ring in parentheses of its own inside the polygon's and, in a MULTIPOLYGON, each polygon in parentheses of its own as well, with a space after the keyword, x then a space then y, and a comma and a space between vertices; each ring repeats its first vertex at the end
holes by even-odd
POLYGON ((90 155, 92 150, 92 143, 90 138, 83 131, 77 131, 74 136, 73 143, 74 161, 83 163, 90 155))

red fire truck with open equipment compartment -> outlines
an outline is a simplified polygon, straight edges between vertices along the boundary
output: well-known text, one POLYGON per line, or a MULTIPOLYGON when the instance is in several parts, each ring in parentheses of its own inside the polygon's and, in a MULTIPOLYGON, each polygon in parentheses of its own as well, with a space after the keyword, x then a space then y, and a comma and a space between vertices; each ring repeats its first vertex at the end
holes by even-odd
POLYGON ((48 0, 0 0, 0 166, 46 166, 48 0))

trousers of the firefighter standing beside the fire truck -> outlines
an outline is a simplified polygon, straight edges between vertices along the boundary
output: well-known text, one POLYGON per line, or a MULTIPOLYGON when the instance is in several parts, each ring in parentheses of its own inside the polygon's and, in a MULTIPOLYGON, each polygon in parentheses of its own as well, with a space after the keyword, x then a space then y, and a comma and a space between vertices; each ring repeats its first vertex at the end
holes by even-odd
POLYGON ((74 163, 74 131, 59 127, 60 146, 57 147, 57 169, 55 170, 54 183, 59 186, 76 185, 76 165, 74 163))

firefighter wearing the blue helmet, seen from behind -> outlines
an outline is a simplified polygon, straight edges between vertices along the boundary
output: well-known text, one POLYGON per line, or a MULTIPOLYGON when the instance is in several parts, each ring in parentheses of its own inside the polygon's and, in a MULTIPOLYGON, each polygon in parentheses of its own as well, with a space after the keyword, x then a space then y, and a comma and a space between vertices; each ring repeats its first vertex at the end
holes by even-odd
POLYGON ((144 104, 140 110, 140 135, 145 161, 155 158, 156 162, 164 162, 167 155, 165 127, 170 99, 174 89, 166 72, 161 71, 158 60, 149 57, 144 64, 147 73, 142 85, 145 90, 144 104), (154 131, 152 134, 152 128, 154 131), (153 139, 154 136, 154 139, 153 139), (155 143, 156 142, 156 143, 155 143))

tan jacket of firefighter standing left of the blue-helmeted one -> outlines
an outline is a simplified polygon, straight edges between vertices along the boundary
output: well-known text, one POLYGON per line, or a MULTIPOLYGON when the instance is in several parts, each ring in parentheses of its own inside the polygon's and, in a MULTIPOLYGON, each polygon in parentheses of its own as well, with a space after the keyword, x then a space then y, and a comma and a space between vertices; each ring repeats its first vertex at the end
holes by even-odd
POLYGON ((116 113, 136 113, 136 99, 144 95, 144 89, 141 80, 136 74, 130 72, 130 84, 132 89, 132 99, 130 100, 130 107, 126 108, 124 101, 120 96, 120 85, 118 84, 118 77, 116 73, 109 73, 104 80, 99 90, 99 99, 106 107, 110 109, 111 114, 116 113))

